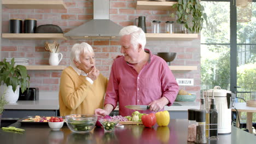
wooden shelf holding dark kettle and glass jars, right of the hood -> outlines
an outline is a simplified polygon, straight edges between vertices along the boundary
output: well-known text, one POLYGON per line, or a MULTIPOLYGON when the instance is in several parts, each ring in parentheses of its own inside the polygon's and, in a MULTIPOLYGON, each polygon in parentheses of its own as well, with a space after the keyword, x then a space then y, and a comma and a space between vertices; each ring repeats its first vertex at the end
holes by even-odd
POLYGON ((198 34, 185 33, 146 33, 147 40, 196 39, 198 34))

